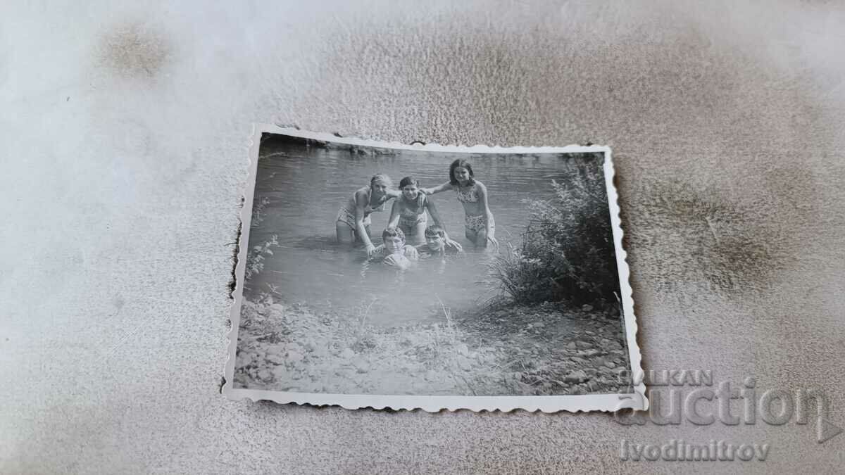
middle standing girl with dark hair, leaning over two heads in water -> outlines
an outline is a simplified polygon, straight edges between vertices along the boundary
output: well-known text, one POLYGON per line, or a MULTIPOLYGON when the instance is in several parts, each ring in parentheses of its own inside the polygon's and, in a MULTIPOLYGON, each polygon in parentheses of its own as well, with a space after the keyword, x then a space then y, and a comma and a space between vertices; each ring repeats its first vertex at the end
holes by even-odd
POLYGON ((425 228, 428 225, 426 210, 434 224, 443 227, 437 207, 426 194, 420 192, 419 186, 419 180, 414 177, 402 178, 399 182, 401 196, 393 202, 390 220, 387 221, 387 227, 398 227, 408 241, 414 244, 425 243, 425 228))

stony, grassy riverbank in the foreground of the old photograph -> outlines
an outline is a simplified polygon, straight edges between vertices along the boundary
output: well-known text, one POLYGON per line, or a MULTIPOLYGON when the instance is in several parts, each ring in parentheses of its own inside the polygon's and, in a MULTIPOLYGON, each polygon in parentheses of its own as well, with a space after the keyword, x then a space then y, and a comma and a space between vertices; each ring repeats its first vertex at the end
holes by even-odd
POLYGON ((383 328, 302 303, 242 306, 234 385, 346 394, 530 396, 613 393, 630 365, 618 315, 502 305, 383 328))

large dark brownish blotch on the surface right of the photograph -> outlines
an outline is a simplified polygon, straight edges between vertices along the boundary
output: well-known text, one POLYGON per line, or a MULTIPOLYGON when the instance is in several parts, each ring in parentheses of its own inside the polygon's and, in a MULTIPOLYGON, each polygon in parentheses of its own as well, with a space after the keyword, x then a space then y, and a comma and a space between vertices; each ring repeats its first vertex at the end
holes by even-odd
POLYGON ((658 292, 760 292, 788 267, 793 241, 772 223, 775 208, 765 201, 734 202, 717 188, 680 181, 646 183, 635 193, 623 213, 626 247, 643 249, 630 258, 658 292))

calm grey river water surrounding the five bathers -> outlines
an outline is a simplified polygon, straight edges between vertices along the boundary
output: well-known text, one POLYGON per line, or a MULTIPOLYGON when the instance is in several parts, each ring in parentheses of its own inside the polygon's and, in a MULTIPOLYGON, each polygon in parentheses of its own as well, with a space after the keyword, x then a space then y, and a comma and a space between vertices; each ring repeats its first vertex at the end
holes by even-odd
MULTIPOLYGON (((279 246, 266 256, 264 270, 248 282, 246 297, 273 288, 286 303, 308 303, 354 318, 366 314, 368 323, 384 326, 444 320, 444 308, 450 312, 472 308, 498 291, 485 285, 494 255, 476 250, 464 238, 464 211, 453 191, 430 198, 450 236, 464 245, 467 252, 461 258, 423 259, 400 272, 365 262, 363 248, 335 243, 337 210, 373 174, 387 173, 395 186, 402 177, 413 175, 423 187, 432 187, 448 180, 455 158, 468 159, 475 177, 488 187, 502 252, 508 243, 521 243, 527 223, 524 201, 549 199, 551 180, 565 182, 576 176, 568 158, 558 154, 373 153, 283 143, 262 145, 260 155, 254 204, 265 205, 259 224, 250 231, 249 248, 274 235, 279 246)), ((376 245, 381 243, 391 204, 371 215, 376 245)))

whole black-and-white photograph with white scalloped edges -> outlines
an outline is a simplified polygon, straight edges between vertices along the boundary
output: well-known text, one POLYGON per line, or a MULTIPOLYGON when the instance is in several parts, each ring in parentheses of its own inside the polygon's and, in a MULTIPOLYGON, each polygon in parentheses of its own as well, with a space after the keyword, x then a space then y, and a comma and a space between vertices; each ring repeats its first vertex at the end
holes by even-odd
POLYGON ((643 408, 610 150, 261 127, 226 394, 344 407, 643 408), (621 401, 621 402, 620 402, 621 401))

